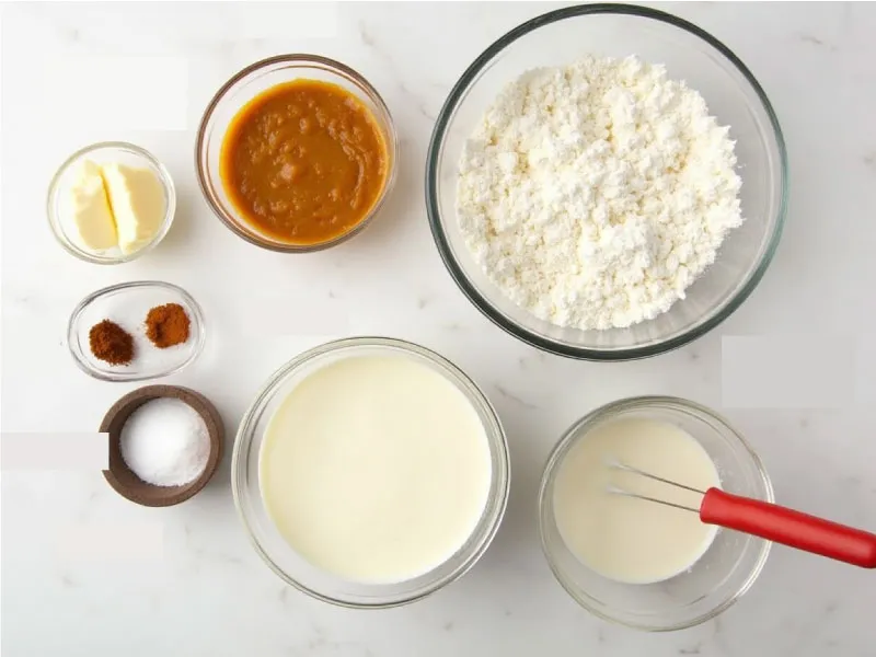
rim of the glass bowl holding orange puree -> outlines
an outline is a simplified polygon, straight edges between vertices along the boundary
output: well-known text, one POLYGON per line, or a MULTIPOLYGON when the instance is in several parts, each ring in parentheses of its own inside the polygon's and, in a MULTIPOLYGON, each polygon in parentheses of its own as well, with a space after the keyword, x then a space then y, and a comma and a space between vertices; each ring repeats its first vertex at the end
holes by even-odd
MULTIPOLYGON (((240 111, 240 107, 238 107, 240 111)), ((381 126, 381 132, 382 126, 381 126)), ((385 205, 387 199, 392 192, 392 188, 395 184, 395 178, 397 176, 399 170, 399 158, 401 155, 401 146, 399 139, 399 131, 395 128, 395 119, 392 117, 392 113, 390 112, 387 102, 383 100, 383 96, 380 95, 377 88, 371 84, 368 79, 358 72, 353 67, 347 66, 336 59, 331 59, 328 57, 323 57, 322 55, 312 55, 307 53, 291 53, 285 55, 274 55, 272 57, 266 57, 264 59, 260 59, 258 61, 254 61, 253 64, 242 68, 237 73, 231 76, 220 88, 219 90, 212 95, 209 103, 207 103, 207 107, 204 110, 204 114, 200 116, 200 122, 198 124, 198 134, 197 138, 195 139, 195 173, 198 181, 198 187, 200 188, 200 194, 204 197, 204 200, 207 203, 207 206, 210 208, 214 215, 219 218, 219 220, 228 228, 231 232, 235 235, 245 240, 250 244, 258 246, 261 249, 266 249, 268 251, 275 251, 277 253, 313 253, 316 251, 323 251, 325 249, 331 249, 342 242, 347 241, 348 239, 353 238, 354 235, 361 232, 378 215, 380 209, 385 205), (380 112, 387 118, 387 130, 384 138, 389 138, 389 143, 387 143, 387 151, 391 154, 392 163, 390 170, 387 174, 387 178, 383 182, 383 189, 380 193, 374 205, 368 211, 368 214, 350 230, 347 232, 330 240, 327 242, 319 242, 318 244, 308 244, 308 245, 300 245, 300 244, 281 244, 279 242, 268 242, 266 240, 262 240, 256 235, 250 234, 240 227, 238 227, 233 221, 229 221, 224 217, 224 212, 221 211, 221 208, 217 207, 217 204, 214 203, 212 195, 208 192, 210 185, 208 184, 208 175, 205 171, 205 168, 201 165, 201 153, 205 150, 205 145, 207 141, 207 124, 214 116, 219 104, 226 99, 229 91, 231 89, 244 81, 250 76, 257 73, 258 71, 266 69, 268 67, 278 65, 278 64, 304 64, 304 65, 319 65, 322 67, 327 68, 334 73, 342 73, 343 76, 348 76, 351 78, 361 89, 365 90, 366 95, 370 96, 371 102, 373 102, 379 108, 380 112)))

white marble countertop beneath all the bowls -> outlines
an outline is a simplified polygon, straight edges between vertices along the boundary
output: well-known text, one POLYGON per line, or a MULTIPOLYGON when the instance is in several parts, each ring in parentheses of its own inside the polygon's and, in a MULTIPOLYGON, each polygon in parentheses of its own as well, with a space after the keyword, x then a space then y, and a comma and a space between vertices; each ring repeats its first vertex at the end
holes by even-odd
MULTIPOLYGON (((873 573, 775 548, 752 590, 718 620, 648 635, 576 607, 553 580, 535 530, 544 459, 587 411, 642 393, 719 406, 722 335, 803 333, 820 349, 832 348, 825 336, 873 335, 876 5, 660 5, 723 41, 765 88, 787 139, 791 209, 772 267, 725 324, 678 351, 609 365, 546 356, 493 326, 447 275, 425 216, 425 152, 451 84, 496 37, 552 7, 327 4, 311 23, 302 21, 313 8, 295 3, 3 8, 4 431, 96 429, 136 385, 76 368, 65 344, 69 312, 96 288, 159 278, 192 292, 209 324, 203 357, 168 382, 211 397, 230 436, 260 383, 289 357, 324 337, 374 331, 433 347, 479 381, 506 425, 514 469, 505 522, 476 567, 424 601, 380 612, 310 600, 262 564, 232 505, 228 458, 201 495, 169 509, 127 503, 96 472, 7 471, 3 657, 876 655, 873 573), (193 170, 197 120, 218 85, 246 64, 296 50, 362 71, 394 113, 403 152, 379 220, 307 257, 235 238, 207 209, 193 170), (90 99, 59 72, 89 55, 170 58, 169 70, 187 71, 187 95, 140 107, 137 126, 89 123, 90 99), (162 126, 174 129, 145 129, 162 126), (54 168, 101 139, 152 150, 180 195, 166 241, 118 267, 70 257, 44 217, 54 168), (270 293, 247 295, 251 286, 270 293), (85 544, 148 531, 163 532, 163 554, 145 548, 113 556, 85 544)), ((873 371, 876 358, 863 366, 873 371)), ((874 528, 875 407, 850 401, 827 411, 725 412, 761 453, 780 502, 874 528)))

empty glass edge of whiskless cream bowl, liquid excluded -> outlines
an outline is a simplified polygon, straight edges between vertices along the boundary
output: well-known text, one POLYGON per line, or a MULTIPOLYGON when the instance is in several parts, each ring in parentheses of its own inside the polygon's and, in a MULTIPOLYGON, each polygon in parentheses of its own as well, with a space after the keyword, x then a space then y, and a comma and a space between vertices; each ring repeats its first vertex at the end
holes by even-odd
POLYGON ((387 337, 354 337, 310 349, 277 370, 255 397, 240 424, 231 457, 234 504, 260 556, 287 584, 341 607, 380 609, 414 602, 464 575, 486 551, 505 514, 510 462, 505 431, 487 399, 459 368, 418 345, 387 337), (465 395, 481 417, 491 452, 486 505, 469 540, 430 572, 395 584, 358 584, 334 577, 308 563, 284 540, 267 514, 261 494, 258 461, 265 429, 274 412, 304 378, 331 362, 351 356, 390 355, 411 358, 446 377, 465 395))

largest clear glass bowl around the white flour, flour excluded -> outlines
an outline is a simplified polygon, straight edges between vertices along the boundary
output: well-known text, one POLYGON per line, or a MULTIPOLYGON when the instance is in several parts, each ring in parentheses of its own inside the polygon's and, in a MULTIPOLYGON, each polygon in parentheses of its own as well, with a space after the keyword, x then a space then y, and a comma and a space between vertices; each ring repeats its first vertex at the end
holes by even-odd
MULTIPOLYGON (((438 250, 465 296, 495 324, 540 349, 572 358, 626 360, 680 347, 727 319, 762 278, 786 209, 787 162, 779 120, 763 89, 726 46, 703 30, 641 7, 561 9, 516 27, 489 46, 453 87, 436 122, 426 164, 426 204, 438 250), (715 262, 668 311, 629 327, 581 330, 535 316, 475 260, 457 211, 465 142, 503 89, 525 72, 591 56, 662 65, 705 100, 735 141, 744 223, 715 262)), ((561 237, 561 239, 563 239, 561 237)), ((520 245, 520 249, 530 249, 520 245)))

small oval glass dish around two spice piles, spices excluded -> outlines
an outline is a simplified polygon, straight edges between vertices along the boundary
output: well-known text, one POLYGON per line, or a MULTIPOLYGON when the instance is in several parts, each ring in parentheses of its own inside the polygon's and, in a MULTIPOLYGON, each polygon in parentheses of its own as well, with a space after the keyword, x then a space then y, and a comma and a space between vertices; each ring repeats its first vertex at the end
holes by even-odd
POLYGON ((176 373, 198 357, 206 339, 204 312, 184 289, 170 283, 142 280, 113 285, 92 292, 76 307, 67 325, 67 345, 73 360, 87 374, 102 381, 146 381, 176 373), (150 309, 178 303, 189 319, 188 341, 160 349, 146 335, 150 309), (91 353, 91 327, 111 320, 134 336, 135 355, 128 365, 110 365, 91 353))

